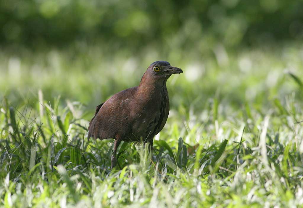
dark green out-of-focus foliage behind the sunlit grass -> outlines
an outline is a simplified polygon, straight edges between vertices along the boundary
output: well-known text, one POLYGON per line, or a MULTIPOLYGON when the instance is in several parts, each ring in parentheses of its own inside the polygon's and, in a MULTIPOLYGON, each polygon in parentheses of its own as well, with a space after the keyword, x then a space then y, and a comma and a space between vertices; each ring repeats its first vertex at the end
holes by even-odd
MULTIPOLYGON (((65 46, 80 40, 137 52, 199 50, 303 38, 302 1, 1 0, 2 44, 65 46)), ((101 46, 102 47, 102 46, 101 46)))

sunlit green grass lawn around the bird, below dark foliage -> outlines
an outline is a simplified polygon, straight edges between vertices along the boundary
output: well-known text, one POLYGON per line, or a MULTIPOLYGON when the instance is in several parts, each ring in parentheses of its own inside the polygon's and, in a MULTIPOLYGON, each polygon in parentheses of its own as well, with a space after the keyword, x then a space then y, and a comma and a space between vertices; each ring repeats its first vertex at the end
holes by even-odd
POLYGON ((198 54, 0 53, 0 207, 303 207, 303 44, 198 54), (164 57, 164 58, 163 58, 164 57), (94 107, 167 60, 151 154, 87 140, 94 107))

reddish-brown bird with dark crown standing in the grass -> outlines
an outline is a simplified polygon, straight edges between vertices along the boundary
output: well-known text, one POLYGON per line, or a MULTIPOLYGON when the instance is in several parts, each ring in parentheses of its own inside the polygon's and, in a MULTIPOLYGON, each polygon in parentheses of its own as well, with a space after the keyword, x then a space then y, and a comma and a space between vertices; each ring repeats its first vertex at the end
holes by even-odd
POLYGON ((116 153, 121 141, 149 143, 164 127, 169 113, 166 81, 172 74, 183 73, 167 61, 149 65, 138 86, 114 94, 96 107, 89 123, 88 139, 113 138, 111 169, 116 166, 116 153))

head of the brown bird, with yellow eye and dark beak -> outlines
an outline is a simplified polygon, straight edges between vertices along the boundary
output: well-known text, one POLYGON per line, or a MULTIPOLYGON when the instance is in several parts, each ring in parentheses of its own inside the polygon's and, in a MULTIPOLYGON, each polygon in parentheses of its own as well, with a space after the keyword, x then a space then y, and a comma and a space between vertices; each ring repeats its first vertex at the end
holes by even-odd
POLYGON ((149 65, 144 75, 155 80, 167 80, 172 74, 180 73, 183 73, 180 68, 172 67, 167 61, 155 61, 149 65))

